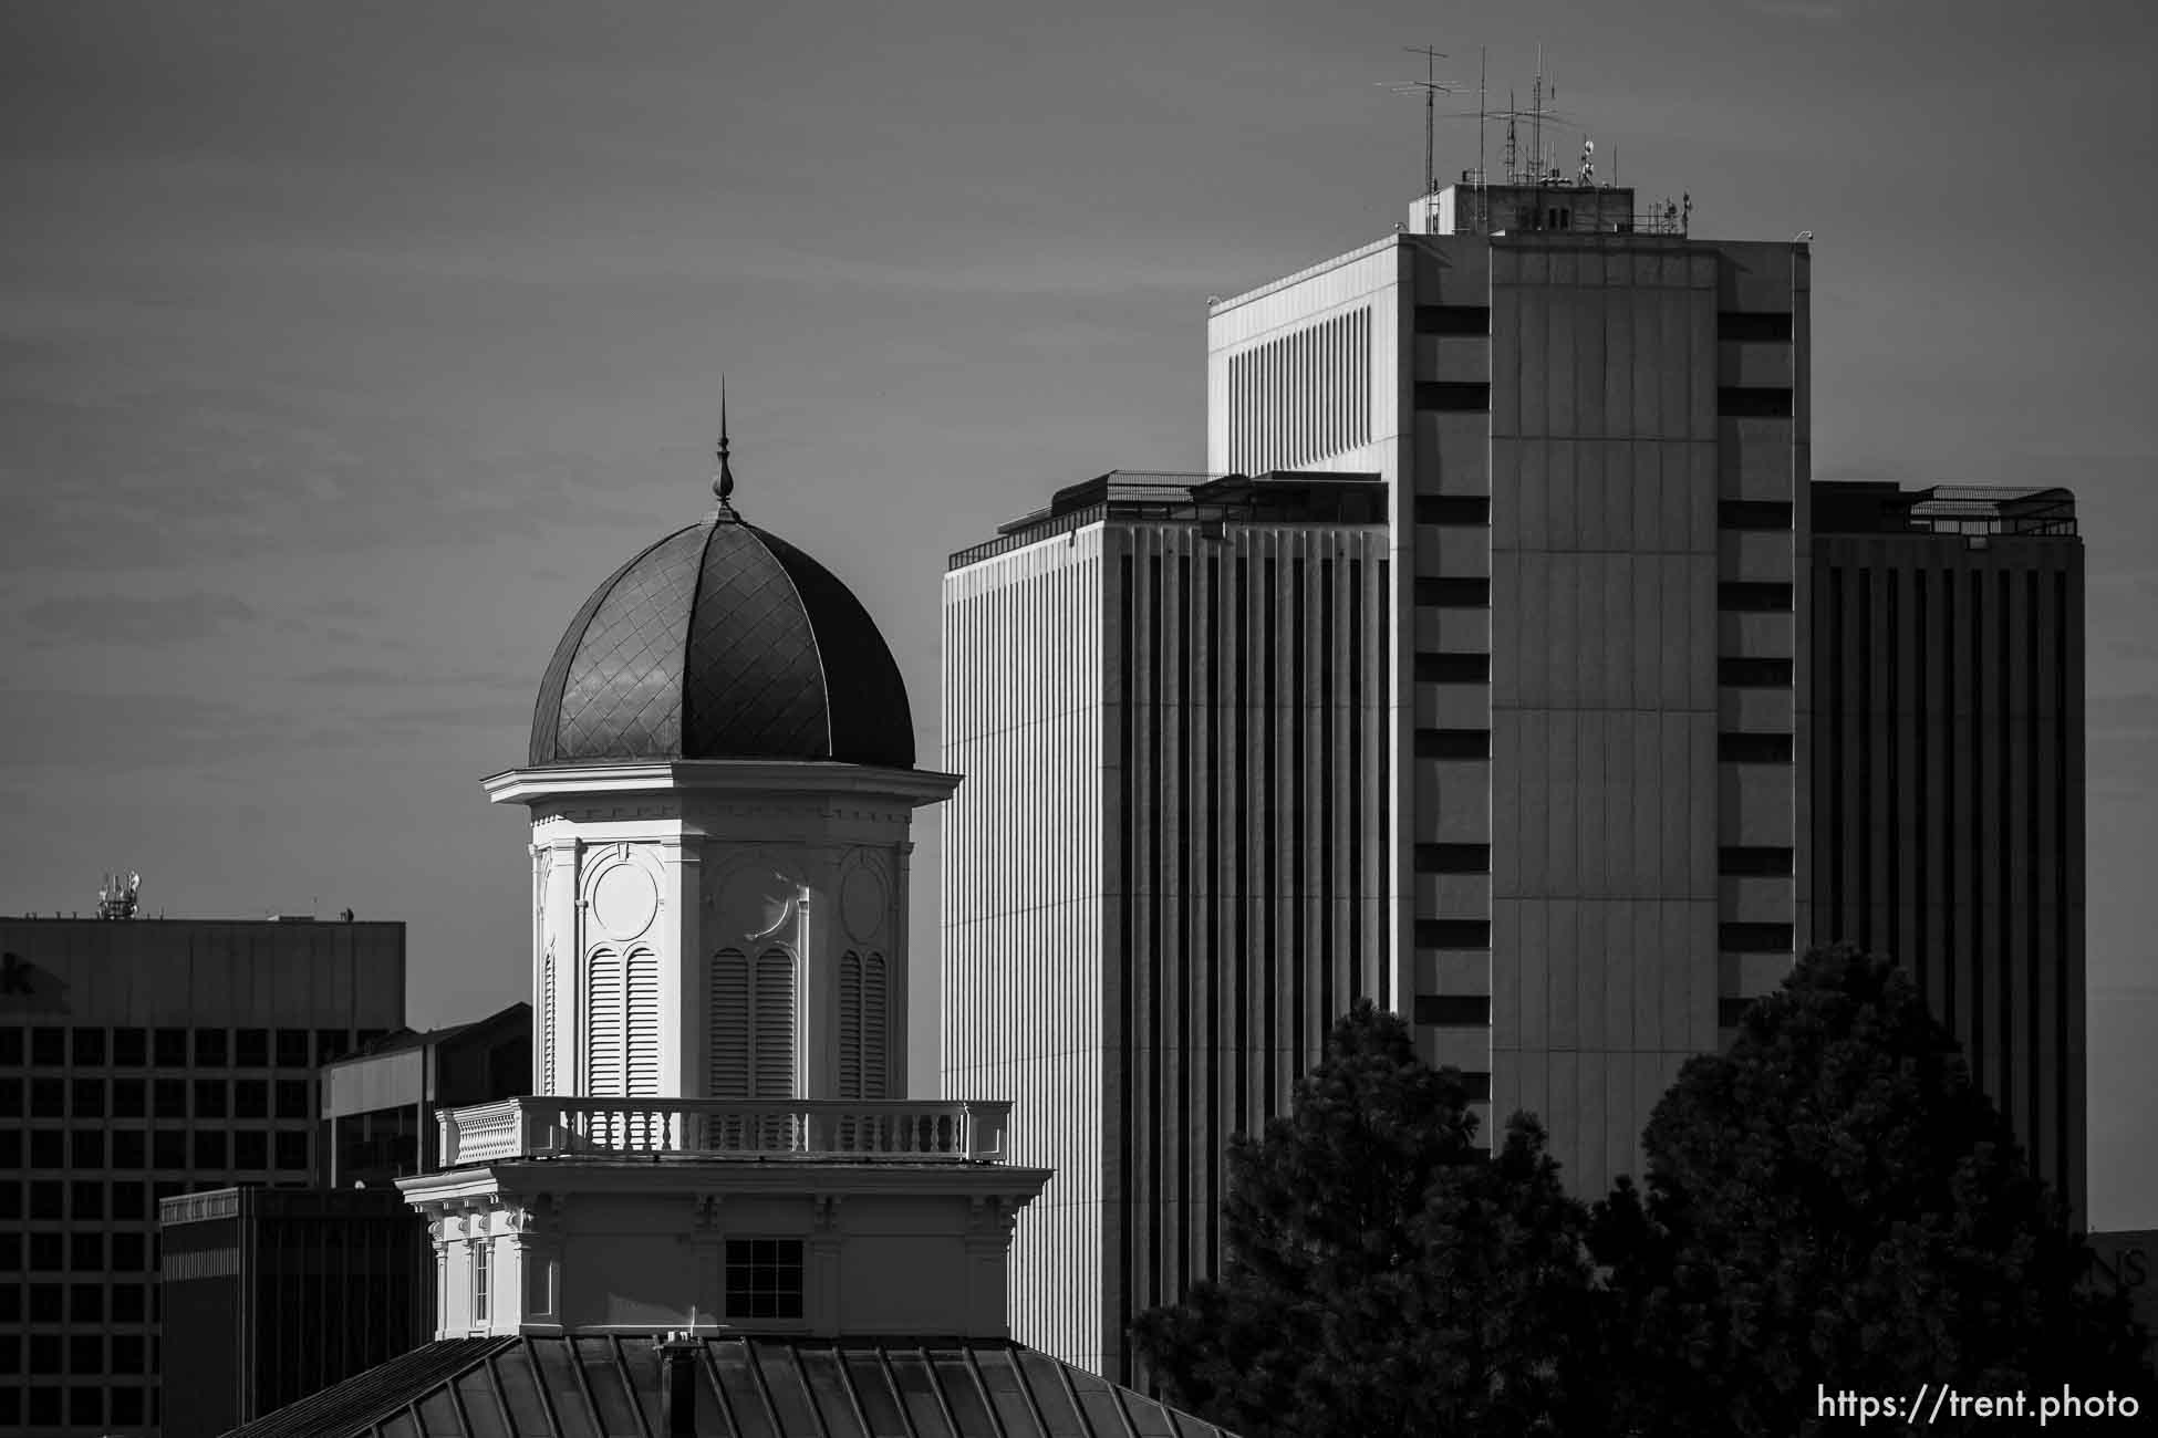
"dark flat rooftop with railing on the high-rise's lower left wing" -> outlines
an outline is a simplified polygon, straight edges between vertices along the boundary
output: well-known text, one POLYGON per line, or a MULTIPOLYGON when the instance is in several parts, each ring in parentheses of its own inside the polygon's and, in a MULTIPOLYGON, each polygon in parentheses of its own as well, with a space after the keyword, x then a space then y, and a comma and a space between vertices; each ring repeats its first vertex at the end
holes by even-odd
POLYGON ((1008 550, 1103 520, 1148 524, 1381 524, 1385 483, 1370 472, 1273 470, 1269 474, 1180 474, 1109 470, 1051 496, 997 537, 952 554, 962 569, 1008 550))

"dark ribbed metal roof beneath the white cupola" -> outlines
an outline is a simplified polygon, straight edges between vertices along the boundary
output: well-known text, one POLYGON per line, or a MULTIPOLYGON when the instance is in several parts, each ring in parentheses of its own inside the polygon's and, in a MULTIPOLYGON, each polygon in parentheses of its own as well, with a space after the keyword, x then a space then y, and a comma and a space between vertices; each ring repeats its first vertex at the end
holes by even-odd
POLYGON ((445 1339, 227 1438, 1230 1438, 1003 1339, 445 1339))

